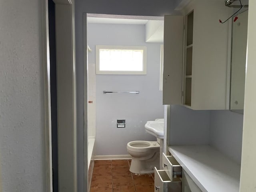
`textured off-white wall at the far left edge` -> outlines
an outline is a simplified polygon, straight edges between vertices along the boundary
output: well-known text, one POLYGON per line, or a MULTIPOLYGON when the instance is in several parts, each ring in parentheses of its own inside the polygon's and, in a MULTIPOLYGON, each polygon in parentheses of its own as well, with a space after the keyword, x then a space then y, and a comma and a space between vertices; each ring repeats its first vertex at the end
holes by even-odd
POLYGON ((42 2, 0 1, 0 153, 4 192, 45 192, 42 2))

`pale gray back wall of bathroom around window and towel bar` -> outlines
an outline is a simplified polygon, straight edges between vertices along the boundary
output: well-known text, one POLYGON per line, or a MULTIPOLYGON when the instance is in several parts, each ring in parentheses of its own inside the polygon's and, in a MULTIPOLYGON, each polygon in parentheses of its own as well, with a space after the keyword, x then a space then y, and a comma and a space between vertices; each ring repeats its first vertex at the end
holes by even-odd
POLYGON ((96 75, 96 155, 128 154, 128 142, 156 140, 144 125, 164 117, 159 90, 161 44, 145 42, 145 25, 128 24, 88 24, 88 44, 89 64, 95 63, 95 45, 147 47, 146 75, 96 75), (103 94, 103 90, 140 93, 103 94), (116 128, 117 119, 126 119, 126 128, 116 128))

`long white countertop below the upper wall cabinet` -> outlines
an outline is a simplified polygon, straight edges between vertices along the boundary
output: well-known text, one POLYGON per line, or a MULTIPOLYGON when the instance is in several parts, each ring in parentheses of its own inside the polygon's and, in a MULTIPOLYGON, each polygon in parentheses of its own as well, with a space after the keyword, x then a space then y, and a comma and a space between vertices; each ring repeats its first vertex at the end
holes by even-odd
POLYGON ((240 165, 208 145, 169 146, 203 192, 239 192, 240 165))

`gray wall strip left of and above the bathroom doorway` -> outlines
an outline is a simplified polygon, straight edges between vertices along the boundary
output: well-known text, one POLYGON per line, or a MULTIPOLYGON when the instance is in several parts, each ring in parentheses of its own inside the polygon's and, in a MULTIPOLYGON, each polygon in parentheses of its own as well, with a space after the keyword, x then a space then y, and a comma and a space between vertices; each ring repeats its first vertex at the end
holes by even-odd
POLYGON ((76 80, 77 80, 77 153, 78 153, 78 191, 84 189, 84 67, 83 67, 83 13, 164 16, 171 14, 177 0, 76 0, 76 80))

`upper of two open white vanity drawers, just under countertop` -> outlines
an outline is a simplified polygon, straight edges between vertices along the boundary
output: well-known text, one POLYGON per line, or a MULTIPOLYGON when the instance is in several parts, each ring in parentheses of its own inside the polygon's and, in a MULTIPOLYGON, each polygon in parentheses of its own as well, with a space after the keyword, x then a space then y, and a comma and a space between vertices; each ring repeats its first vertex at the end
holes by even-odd
POLYGON ((162 166, 171 180, 182 175, 182 167, 173 156, 166 156, 163 153, 162 162, 162 166))

